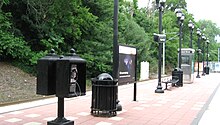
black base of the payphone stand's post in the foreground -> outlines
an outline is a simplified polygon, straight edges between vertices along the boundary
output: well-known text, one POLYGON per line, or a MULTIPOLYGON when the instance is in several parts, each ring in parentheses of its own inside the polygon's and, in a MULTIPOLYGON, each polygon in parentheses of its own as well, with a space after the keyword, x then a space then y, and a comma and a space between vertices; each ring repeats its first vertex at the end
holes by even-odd
POLYGON ((74 125, 74 121, 67 120, 66 118, 56 118, 47 122, 47 125, 74 125))

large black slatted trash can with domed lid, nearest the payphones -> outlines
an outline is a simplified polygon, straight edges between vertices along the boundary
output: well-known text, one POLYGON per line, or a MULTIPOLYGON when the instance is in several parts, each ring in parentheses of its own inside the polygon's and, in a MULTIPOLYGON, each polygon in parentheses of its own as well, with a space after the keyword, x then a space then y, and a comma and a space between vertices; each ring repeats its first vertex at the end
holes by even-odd
POLYGON ((118 81, 107 73, 92 79, 91 114, 101 117, 116 116, 118 81))

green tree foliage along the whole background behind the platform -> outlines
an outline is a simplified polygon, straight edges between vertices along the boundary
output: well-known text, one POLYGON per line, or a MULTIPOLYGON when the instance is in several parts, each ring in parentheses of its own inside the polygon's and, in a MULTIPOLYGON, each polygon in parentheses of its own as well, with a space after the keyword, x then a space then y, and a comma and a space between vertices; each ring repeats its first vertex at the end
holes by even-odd
MULTIPOLYGON (((88 77, 112 71, 113 8, 112 0, 0 0, 0 56, 3 59, 24 62, 36 66, 37 60, 50 49, 66 54, 70 48, 87 60, 88 77)), ((138 50, 138 63, 150 62, 150 70, 156 72, 158 43, 153 33, 158 33, 158 10, 141 8, 137 0, 119 0, 119 44, 134 46, 138 50)), ((166 64, 175 67, 179 46, 179 26, 175 9, 183 8, 186 16, 183 25, 183 47, 189 45, 188 21, 196 27, 206 28, 210 39, 211 57, 216 60, 215 36, 220 33, 216 24, 201 20, 196 22, 187 12, 185 0, 167 0, 163 12, 163 29, 167 35, 166 64)), ((197 36, 193 35, 197 48, 197 36)), ((139 65, 139 64, 138 64, 139 65)))

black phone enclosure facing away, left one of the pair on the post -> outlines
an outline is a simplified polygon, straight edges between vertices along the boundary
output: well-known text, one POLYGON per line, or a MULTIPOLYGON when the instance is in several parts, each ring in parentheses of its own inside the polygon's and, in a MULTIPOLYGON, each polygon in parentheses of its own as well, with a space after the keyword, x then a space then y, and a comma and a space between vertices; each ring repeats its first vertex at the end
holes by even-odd
POLYGON ((54 95, 56 93, 56 61, 59 56, 52 49, 45 57, 37 61, 37 94, 54 95))

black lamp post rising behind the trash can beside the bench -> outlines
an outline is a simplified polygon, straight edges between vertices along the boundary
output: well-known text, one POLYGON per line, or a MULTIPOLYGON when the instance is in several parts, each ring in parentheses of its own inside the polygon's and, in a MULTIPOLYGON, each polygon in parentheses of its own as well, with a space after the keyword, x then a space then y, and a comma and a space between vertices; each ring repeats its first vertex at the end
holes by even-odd
POLYGON ((180 9, 176 10, 176 17, 178 19, 179 24, 179 60, 178 60, 178 66, 179 69, 181 69, 181 48, 182 48, 182 29, 183 29, 183 21, 185 19, 185 15, 182 13, 180 9))

